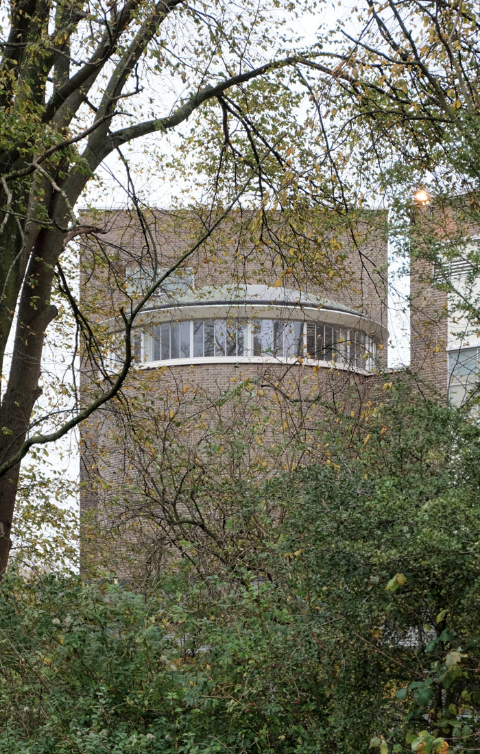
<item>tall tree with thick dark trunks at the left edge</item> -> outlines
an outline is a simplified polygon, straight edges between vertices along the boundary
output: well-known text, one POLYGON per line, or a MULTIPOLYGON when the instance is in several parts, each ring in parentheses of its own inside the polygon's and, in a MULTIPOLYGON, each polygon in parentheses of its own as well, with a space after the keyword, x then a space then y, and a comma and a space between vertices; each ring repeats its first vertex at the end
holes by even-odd
MULTIPOLYGON (((5 3, 0 60, 0 367, 9 376, 0 406, 0 573, 11 544, 21 459, 32 445, 56 440, 112 397, 131 359, 129 332, 138 311, 133 304, 124 312, 126 358, 118 378, 53 431, 45 425, 32 427, 32 410, 41 392, 45 331, 58 314, 52 300, 57 280, 82 321, 63 274, 66 244, 102 229, 78 219, 78 198, 112 152, 122 158, 123 145, 149 134, 155 135, 156 143, 166 143, 169 132, 208 103, 223 123, 228 147, 232 105, 227 112, 226 93, 230 103, 241 101, 241 114, 253 96, 248 90, 252 82, 259 83, 267 100, 269 86, 278 92, 282 71, 297 65, 296 52, 280 54, 272 44, 273 30, 282 26, 279 18, 291 11, 290 4, 284 8, 276 2, 271 8, 250 2, 226 8, 220 2, 206 6, 182 0, 5 3), (150 97, 148 87, 155 89, 150 97), (13 347, 5 362, 13 327, 13 347)), ((283 35, 280 39, 285 49, 288 40, 283 35)), ((282 97, 288 97, 288 87, 283 87, 282 97)), ((254 134, 257 163, 248 167, 227 209, 258 171, 262 149, 263 155, 272 149, 270 135, 263 136, 262 143, 262 135, 254 134)), ((197 244, 210 231, 207 225, 197 244)), ((160 277, 153 280, 146 296, 160 282, 160 277)), ((83 326, 88 327, 85 322, 83 326)))

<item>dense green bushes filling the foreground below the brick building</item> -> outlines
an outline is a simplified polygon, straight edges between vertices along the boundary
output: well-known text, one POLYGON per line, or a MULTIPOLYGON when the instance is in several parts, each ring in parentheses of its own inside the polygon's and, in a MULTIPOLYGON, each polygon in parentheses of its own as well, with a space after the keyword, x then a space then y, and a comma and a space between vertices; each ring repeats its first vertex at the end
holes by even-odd
POLYGON ((203 575, 12 575, 4 748, 474 750, 478 428, 408 390, 341 416, 327 462, 236 489, 229 559, 203 575), (240 511, 266 498, 282 515, 246 560, 240 511))

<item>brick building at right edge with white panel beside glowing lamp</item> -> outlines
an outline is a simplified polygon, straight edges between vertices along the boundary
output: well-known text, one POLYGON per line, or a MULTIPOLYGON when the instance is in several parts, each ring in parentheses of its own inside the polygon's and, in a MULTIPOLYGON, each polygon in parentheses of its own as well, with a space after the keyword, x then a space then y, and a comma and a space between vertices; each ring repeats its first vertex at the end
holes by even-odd
POLYGON ((480 232, 470 198, 423 207, 411 225, 411 369, 453 406, 478 384, 480 232))

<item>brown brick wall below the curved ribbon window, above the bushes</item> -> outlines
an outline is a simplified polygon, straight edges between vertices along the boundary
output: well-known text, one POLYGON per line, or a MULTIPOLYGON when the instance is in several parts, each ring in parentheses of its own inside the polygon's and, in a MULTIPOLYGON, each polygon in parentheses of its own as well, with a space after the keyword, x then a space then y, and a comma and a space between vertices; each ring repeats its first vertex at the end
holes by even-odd
POLYGON ((160 510, 193 519, 198 504, 207 518, 228 517, 223 485, 328 461, 331 425, 361 415, 376 390, 373 377, 300 364, 135 370, 122 399, 82 425, 83 566, 93 559, 125 577, 147 560, 159 567, 171 553, 160 510))

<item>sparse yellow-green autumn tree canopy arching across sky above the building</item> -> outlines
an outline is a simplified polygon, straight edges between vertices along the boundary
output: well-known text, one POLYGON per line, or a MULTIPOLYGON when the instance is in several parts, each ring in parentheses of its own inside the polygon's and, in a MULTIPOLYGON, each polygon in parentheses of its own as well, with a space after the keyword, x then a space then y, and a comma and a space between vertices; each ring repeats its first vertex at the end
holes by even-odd
MULTIPOLYGON (((126 193, 140 214, 124 146, 151 136, 157 172, 171 176, 182 168, 186 185, 218 210, 192 248, 242 195, 281 210, 290 231, 312 206, 343 218, 385 199, 410 210, 411 189, 424 183, 454 210, 456 202, 465 206, 459 194, 475 198, 475 5, 365 2, 355 6, 353 23, 319 28, 309 49, 288 31, 291 19, 307 11, 315 5, 5 7, 0 357, 8 382, 0 408, 0 569, 21 459, 109 400, 128 372, 130 329, 140 311, 133 302, 123 314, 126 358, 118 378, 82 411, 45 412, 38 403, 45 333, 63 305, 91 337, 65 274, 64 249, 89 232, 101 236, 94 221, 82 224, 75 205, 109 155, 125 167, 126 193), (179 130, 172 156, 163 145, 179 130)), ((466 207, 467 224, 475 225, 475 201, 466 207)), ((393 232, 405 213, 395 218, 393 232)), ((430 259, 431 244, 417 244, 415 253, 430 259)), ((433 254, 438 261, 438 248, 433 254)), ((475 252, 469 256, 477 274, 475 252)), ((146 295, 160 283, 158 277, 146 295)))

